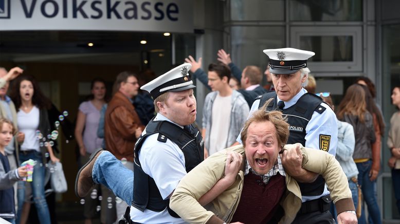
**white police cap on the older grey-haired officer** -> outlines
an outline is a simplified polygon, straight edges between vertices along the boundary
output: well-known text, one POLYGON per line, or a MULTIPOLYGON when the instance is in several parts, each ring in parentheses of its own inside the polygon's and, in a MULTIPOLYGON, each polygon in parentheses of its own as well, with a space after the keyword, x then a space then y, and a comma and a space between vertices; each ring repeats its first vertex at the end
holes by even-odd
POLYGON ((315 55, 312 51, 295 48, 265 49, 269 57, 269 71, 274 74, 292 74, 307 67, 307 59, 315 55))

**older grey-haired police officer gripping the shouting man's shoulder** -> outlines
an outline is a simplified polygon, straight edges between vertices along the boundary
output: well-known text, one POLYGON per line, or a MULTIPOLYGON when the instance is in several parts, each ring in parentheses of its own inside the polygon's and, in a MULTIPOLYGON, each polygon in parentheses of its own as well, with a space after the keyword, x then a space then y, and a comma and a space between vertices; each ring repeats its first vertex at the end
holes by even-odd
MULTIPOLYGON (((307 59, 315 53, 294 48, 266 49, 264 53, 269 57, 269 71, 275 91, 256 98, 250 116, 251 111, 274 98, 267 110, 281 110, 287 116, 290 125, 288 144, 300 142, 305 147, 317 148, 335 156, 335 113, 321 98, 307 93, 303 88, 307 85, 310 73, 307 59)), ((293 223, 332 223, 333 217, 329 212, 331 199, 323 178, 300 169, 301 163, 285 157, 285 152, 282 163, 288 173, 298 180, 302 194, 302 207, 293 223)))

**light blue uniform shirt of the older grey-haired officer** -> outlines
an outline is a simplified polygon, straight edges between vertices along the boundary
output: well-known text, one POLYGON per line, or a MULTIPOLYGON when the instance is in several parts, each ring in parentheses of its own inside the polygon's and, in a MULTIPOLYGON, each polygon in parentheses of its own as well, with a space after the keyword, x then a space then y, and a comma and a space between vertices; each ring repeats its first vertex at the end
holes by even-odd
MULTIPOLYGON (((306 94, 307 90, 302 88, 298 94, 290 99, 289 101, 285 102, 285 106, 283 109, 289 108, 296 104, 296 102, 300 99, 301 96, 306 94)), ((278 102, 281 101, 279 97, 277 97, 278 102)), ((248 118, 251 116, 253 111, 259 108, 260 100, 256 100, 253 102, 250 113, 248 118)), ((337 146, 337 123, 336 123, 336 115, 334 111, 331 109, 330 106, 326 105, 325 103, 321 103, 320 106, 326 108, 322 114, 314 111, 311 120, 308 122, 307 126, 305 127, 305 147, 308 148, 315 148, 319 150, 324 144, 323 141, 326 141, 326 138, 329 138, 329 150, 328 153, 332 154, 333 156, 336 155, 336 146, 337 146)), ((242 143, 240 135, 237 138, 237 141, 242 143)), ((320 196, 303 196, 302 201, 308 201, 320 198, 321 196, 328 195, 329 191, 324 188, 324 192, 320 196)))

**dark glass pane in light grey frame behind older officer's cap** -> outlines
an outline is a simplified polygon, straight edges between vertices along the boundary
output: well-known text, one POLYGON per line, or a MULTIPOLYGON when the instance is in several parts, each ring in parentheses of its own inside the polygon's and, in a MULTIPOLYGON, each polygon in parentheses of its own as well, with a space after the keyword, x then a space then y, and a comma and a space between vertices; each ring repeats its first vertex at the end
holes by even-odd
POLYGON ((300 49, 315 52, 313 62, 353 61, 353 36, 300 36, 300 49))

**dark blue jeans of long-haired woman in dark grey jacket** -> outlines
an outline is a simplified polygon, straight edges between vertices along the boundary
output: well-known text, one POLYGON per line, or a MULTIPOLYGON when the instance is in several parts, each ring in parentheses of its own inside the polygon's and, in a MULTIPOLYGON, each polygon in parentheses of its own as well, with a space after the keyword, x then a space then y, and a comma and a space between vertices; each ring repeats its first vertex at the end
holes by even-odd
MULTIPOLYGON (((360 184, 362 190, 362 196, 365 202, 367 202, 368 213, 372 218, 374 224, 381 224, 382 221, 380 219, 380 212, 378 208, 378 203, 376 202, 376 196, 374 190, 376 180, 371 181, 369 177, 372 161, 369 160, 367 162, 359 162, 356 163, 356 165, 358 169, 358 184, 360 184)), ((359 224, 367 223, 363 205, 362 205, 361 217, 358 219, 358 223, 359 224)))

